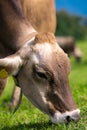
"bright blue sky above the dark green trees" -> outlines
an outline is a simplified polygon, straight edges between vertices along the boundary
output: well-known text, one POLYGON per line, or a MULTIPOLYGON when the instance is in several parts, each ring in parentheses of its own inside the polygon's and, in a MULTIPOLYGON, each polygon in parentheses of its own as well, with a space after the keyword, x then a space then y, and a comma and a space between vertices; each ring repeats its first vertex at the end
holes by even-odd
POLYGON ((56 0, 56 9, 87 17, 87 0, 56 0))

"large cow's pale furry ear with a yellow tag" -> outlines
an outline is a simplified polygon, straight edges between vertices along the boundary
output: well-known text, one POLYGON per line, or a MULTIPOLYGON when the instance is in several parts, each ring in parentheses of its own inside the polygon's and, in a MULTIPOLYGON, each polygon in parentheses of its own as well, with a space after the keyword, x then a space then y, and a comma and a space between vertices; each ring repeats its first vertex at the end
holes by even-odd
POLYGON ((0 59, 0 78, 16 75, 23 65, 23 60, 17 54, 0 59))

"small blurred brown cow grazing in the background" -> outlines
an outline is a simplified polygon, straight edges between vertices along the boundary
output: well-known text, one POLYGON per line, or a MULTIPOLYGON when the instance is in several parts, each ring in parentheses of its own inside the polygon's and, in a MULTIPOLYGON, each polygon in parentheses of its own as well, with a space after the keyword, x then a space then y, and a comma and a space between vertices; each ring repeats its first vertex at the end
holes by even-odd
POLYGON ((56 37, 56 40, 65 53, 69 56, 73 55, 77 61, 81 60, 82 52, 76 46, 75 39, 73 37, 56 37))

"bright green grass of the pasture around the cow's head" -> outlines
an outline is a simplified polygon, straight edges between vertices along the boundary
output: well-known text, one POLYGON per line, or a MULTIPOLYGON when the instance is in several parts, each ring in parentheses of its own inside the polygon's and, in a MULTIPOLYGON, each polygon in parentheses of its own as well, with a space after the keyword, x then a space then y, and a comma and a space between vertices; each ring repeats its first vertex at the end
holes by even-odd
POLYGON ((51 124, 48 116, 35 108, 25 97, 15 114, 8 111, 11 92, 14 86, 12 78, 0 98, 0 130, 87 130, 87 41, 79 41, 83 59, 77 63, 71 58, 70 86, 74 99, 81 110, 81 119, 68 125, 51 124))

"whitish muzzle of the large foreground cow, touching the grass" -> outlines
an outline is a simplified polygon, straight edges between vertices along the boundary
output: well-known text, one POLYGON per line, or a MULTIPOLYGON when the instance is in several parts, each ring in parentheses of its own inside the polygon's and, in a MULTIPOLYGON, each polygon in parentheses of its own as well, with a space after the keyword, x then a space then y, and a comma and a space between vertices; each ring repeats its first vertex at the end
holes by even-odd
POLYGON ((52 123, 68 123, 69 121, 77 122, 80 119, 80 110, 76 109, 70 112, 60 113, 56 112, 54 116, 50 117, 52 123))

